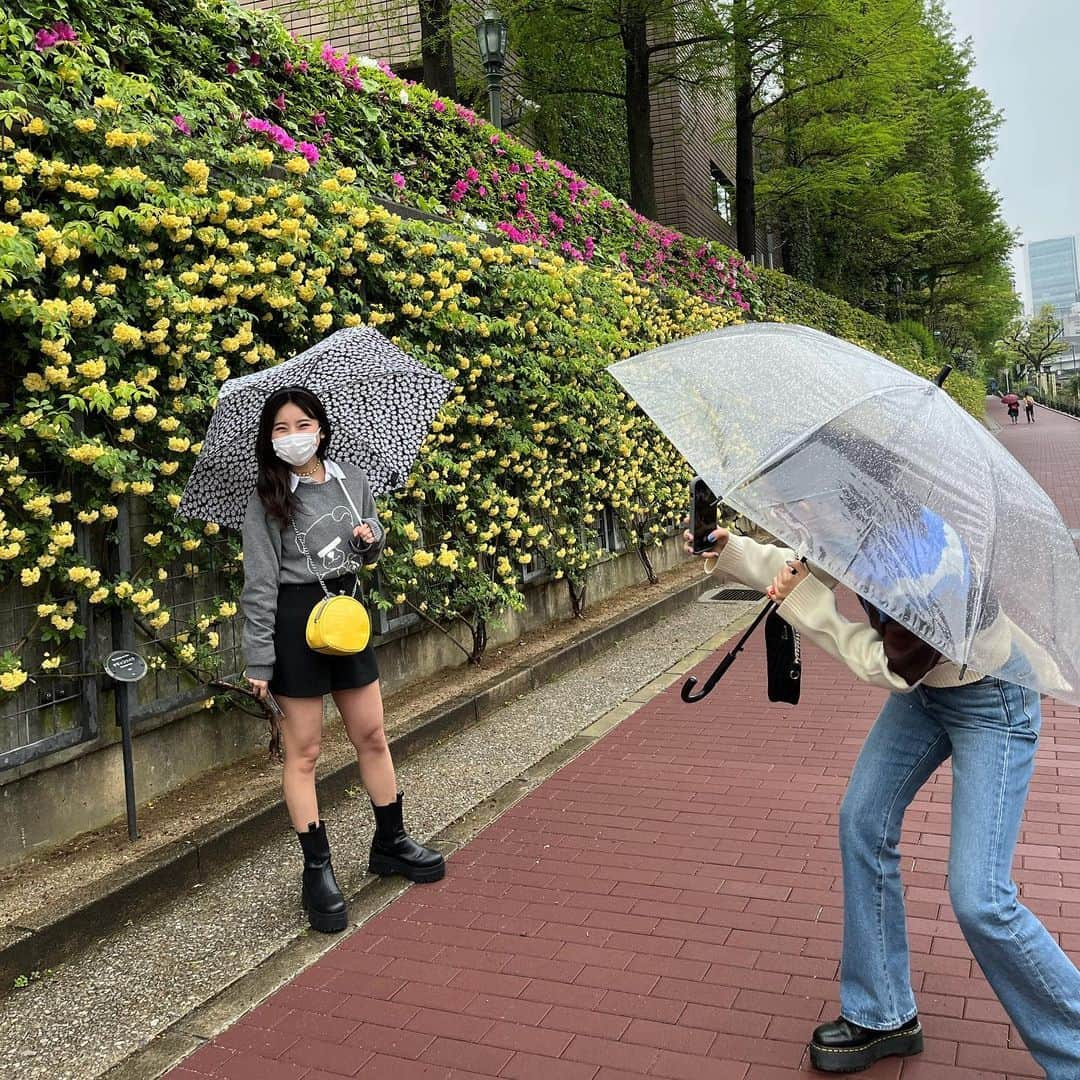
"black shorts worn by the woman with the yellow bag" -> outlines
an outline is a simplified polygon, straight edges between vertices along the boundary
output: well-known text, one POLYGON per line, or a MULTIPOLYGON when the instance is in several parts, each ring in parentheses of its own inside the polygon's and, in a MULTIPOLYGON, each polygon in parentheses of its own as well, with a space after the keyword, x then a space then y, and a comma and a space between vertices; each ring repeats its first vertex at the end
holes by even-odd
MULTIPOLYGON (((352 584, 351 576, 327 582, 330 592, 351 593, 352 584)), ((321 698, 335 690, 352 690, 378 679, 379 667, 372 642, 363 652, 351 657, 327 657, 308 648, 308 616, 324 595, 319 582, 279 588, 271 693, 283 698, 321 698)))

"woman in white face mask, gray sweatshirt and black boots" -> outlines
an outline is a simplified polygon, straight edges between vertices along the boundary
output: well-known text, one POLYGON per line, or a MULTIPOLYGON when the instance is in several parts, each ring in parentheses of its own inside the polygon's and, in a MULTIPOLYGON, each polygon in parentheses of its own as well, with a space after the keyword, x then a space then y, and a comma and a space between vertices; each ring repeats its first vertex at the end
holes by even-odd
POLYGON ((303 852, 302 903, 312 928, 324 933, 348 923, 315 795, 327 693, 356 750, 375 812, 369 869, 411 881, 437 881, 446 872, 437 851, 405 832, 370 642, 347 657, 308 647, 307 620, 324 596, 321 582, 332 593, 353 593, 357 571, 378 559, 386 542, 363 469, 327 457, 330 438, 326 411, 307 390, 278 391, 264 406, 258 482, 243 526, 241 597, 248 681, 260 699, 272 693, 284 713, 283 786, 303 852))

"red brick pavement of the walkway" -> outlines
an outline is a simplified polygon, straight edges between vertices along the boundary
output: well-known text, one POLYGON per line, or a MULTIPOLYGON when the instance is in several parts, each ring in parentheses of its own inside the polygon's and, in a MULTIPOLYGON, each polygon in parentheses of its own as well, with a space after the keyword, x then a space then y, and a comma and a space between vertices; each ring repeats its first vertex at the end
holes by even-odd
MULTIPOLYGON (((1003 438, 1080 525, 1080 423, 1003 438)), ((710 670, 705 665, 705 670, 710 670)), ((782 1080, 837 1012, 837 807, 883 694, 822 653, 770 705, 758 643, 712 697, 662 693, 170 1075, 228 1080, 782 1080)), ((1017 854, 1080 957, 1080 711, 1048 701, 1017 854)), ((1037 1068, 945 891, 949 774, 904 836, 926 1052, 873 1080, 1037 1068)))

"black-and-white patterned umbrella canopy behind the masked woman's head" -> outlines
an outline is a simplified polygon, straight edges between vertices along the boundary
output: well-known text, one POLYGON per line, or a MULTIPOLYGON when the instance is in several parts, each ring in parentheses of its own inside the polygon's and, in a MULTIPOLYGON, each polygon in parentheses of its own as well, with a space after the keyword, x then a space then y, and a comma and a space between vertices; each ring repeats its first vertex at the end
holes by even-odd
POLYGON ((303 387, 323 403, 329 456, 364 469, 378 497, 408 475, 451 386, 369 327, 338 330, 276 367, 229 379, 177 514, 240 528, 258 473, 259 416, 278 390, 303 387))

